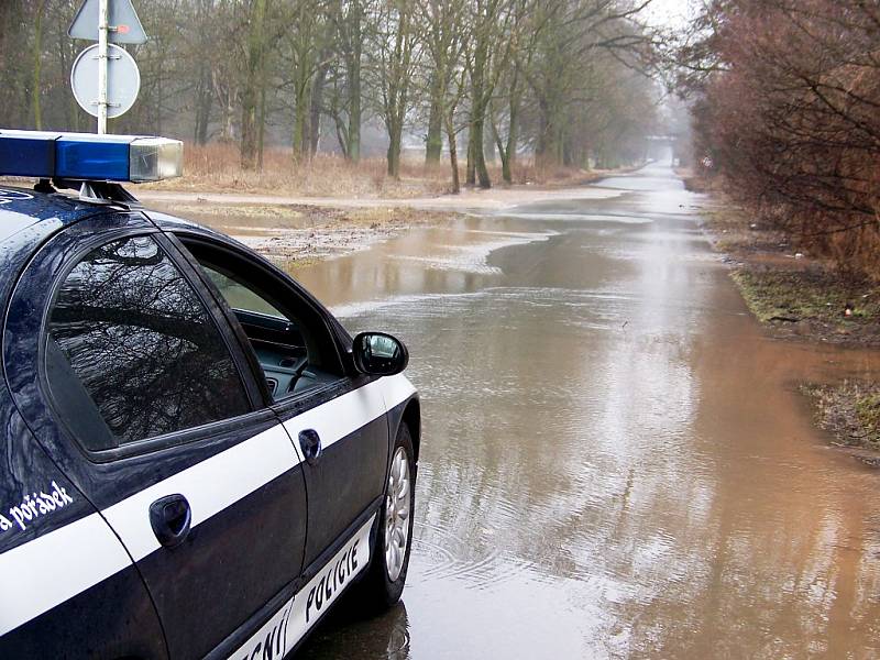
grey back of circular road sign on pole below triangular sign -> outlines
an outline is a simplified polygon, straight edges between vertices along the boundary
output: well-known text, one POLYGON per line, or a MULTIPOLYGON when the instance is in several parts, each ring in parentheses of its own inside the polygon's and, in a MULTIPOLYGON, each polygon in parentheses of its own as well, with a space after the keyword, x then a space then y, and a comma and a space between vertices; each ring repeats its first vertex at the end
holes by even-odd
MULTIPOLYGON (((124 48, 107 44, 107 117, 125 114, 141 90, 141 72, 124 48)), ((70 87, 76 102, 92 117, 98 117, 98 44, 82 51, 70 70, 70 87)))

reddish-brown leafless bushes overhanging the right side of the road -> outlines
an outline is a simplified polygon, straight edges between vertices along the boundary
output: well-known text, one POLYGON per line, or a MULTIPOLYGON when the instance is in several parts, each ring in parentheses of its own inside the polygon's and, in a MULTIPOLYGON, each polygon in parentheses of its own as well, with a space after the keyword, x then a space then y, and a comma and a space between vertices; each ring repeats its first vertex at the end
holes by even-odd
POLYGON ((714 0, 692 36, 682 84, 712 173, 880 276, 880 3, 714 0))

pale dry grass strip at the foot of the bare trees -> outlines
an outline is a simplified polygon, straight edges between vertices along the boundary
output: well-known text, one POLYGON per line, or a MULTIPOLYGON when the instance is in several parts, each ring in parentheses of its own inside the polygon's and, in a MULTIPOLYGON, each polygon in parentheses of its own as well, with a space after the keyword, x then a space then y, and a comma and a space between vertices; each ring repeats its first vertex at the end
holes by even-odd
MULTIPOLYGON (((464 180, 464 168, 460 172, 464 180)), ((538 170, 530 161, 514 167, 514 184, 552 186, 583 185, 606 173, 556 167, 538 170)), ((493 184, 502 182, 501 163, 490 165, 493 184)), ((384 158, 364 158, 352 164, 342 156, 318 154, 296 161, 288 148, 268 148, 262 170, 241 167, 234 144, 187 144, 184 148, 184 176, 147 187, 163 190, 237 191, 304 197, 386 197, 411 198, 442 195, 452 183, 449 164, 426 165, 421 157, 404 157, 400 178, 389 177, 384 158)))

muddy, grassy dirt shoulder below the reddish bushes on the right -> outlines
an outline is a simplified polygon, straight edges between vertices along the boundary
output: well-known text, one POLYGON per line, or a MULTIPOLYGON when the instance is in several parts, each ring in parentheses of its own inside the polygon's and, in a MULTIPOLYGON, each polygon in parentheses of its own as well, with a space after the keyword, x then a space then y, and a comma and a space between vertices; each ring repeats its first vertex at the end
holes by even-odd
MULTIPOLYGON (((779 339, 880 349, 880 286, 845 276, 782 233, 761 227, 718 195, 704 230, 725 253, 749 309, 779 339)), ((877 378, 802 383, 816 422, 859 460, 880 466, 877 378)))

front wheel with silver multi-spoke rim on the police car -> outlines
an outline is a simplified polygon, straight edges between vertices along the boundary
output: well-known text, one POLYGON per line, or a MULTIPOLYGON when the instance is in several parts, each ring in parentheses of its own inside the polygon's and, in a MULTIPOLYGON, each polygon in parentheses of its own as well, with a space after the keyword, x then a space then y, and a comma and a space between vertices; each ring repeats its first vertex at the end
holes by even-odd
MULTIPOLYGON (((388 483, 385 486, 385 501, 380 510, 376 547, 363 586, 367 602, 376 609, 387 609, 400 600, 409 569, 409 549, 413 544, 413 512, 416 503, 416 460, 409 428, 400 425, 392 452, 388 483), (405 481, 399 476, 404 472, 405 481), (403 485, 405 484, 405 486, 403 485), (397 515, 392 506, 396 499, 407 499, 406 518, 400 516, 404 508, 398 504, 397 515), (402 538, 402 535, 406 535, 402 538)), ((403 504, 403 503, 400 503, 403 504)))

